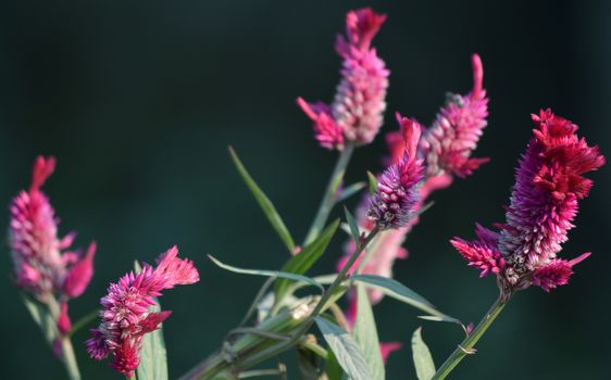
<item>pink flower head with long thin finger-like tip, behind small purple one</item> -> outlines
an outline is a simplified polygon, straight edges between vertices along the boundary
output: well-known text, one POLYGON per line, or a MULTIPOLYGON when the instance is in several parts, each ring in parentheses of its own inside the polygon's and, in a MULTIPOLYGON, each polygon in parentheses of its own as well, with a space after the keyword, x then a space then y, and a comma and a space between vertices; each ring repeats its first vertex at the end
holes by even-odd
POLYGON ((426 177, 450 174, 465 177, 488 159, 471 159, 487 125, 488 99, 483 88, 484 68, 473 54, 473 89, 465 96, 450 93, 432 127, 423 134, 420 153, 425 160, 426 177))

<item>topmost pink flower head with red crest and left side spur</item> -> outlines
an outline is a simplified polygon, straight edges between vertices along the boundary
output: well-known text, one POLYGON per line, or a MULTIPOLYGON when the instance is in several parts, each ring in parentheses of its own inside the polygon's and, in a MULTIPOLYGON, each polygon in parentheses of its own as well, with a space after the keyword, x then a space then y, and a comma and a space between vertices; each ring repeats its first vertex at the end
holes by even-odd
POLYGON ((344 60, 341 80, 333 104, 298 104, 314 122, 322 147, 342 149, 344 141, 365 144, 373 141, 384 122, 389 72, 371 41, 386 21, 369 8, 348 12, 346 37, 338 36, 335 48, 344 60))

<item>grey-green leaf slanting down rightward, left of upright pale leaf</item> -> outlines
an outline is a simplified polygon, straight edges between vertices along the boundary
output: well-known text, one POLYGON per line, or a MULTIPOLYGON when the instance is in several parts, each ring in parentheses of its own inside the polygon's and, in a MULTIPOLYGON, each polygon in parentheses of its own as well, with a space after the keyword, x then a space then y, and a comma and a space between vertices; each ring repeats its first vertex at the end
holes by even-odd
POLYGON ((363 357, 359 344, 339 326, 316 317, 314 318, 331 350, 335 353, 337 363, 352 380, 371 380, 371 371, 363 357))

